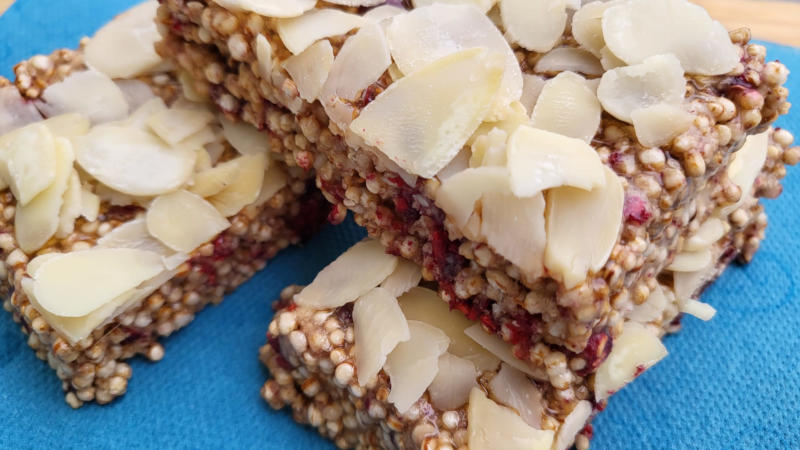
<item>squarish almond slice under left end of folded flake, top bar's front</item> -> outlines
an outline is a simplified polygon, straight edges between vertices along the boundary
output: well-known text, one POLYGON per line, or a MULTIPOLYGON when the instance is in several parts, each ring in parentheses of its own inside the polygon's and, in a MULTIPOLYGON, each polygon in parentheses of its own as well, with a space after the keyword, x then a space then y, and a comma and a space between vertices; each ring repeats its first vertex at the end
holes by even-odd
POLYGON ((481 234, 486 243, 529 279, 539 278, 547 241, 544 196, 484 194, 481 204, 481 234))

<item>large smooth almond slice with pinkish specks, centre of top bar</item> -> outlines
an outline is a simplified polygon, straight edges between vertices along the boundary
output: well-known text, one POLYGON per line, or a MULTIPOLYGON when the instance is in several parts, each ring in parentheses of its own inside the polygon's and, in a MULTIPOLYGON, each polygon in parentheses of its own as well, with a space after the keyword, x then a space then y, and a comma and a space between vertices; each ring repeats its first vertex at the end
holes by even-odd
POLYGON ((433 177, 489 112, 501 75, 485 50, 446 56, 391 84, 350 129, 403 169, 433 177))

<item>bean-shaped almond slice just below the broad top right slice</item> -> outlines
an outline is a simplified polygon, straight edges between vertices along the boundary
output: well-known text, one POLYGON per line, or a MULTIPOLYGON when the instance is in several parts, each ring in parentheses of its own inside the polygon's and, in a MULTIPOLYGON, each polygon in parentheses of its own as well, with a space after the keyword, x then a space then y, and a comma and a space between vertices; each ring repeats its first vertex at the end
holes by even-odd
POLYGON ((651 56, 641 64, 609 70, 597 98, 609 114, 631 123, 631 113, 657 105, 680 105, 686 93, 681 63, 673 55, 651 56))

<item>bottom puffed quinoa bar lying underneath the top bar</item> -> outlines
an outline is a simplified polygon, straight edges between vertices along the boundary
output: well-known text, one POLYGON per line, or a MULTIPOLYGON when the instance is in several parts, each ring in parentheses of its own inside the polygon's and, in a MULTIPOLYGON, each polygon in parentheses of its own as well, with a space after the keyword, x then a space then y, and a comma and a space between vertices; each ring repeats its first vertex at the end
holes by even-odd
POLYGON ((622 332, 613 347, 601 344, 608 356, 592 375, 544 343, 530 362, 515 358, 430 284, 417 285, 421 268, 392 260, 374 241, 359 243, 308 287, 281 293, 260 351, 271 372, 261 395, 339 448, 586 449, 591 420, 667 355, 660 338, 680 328, 683 313, 714 315, 696 297, 763 238, 761 206, 751 200, 745 209, 746 223, 729 223, 708 245, 713 262, 702 275, 673 283, 662 274, 644 303, 624 311, 622 332))

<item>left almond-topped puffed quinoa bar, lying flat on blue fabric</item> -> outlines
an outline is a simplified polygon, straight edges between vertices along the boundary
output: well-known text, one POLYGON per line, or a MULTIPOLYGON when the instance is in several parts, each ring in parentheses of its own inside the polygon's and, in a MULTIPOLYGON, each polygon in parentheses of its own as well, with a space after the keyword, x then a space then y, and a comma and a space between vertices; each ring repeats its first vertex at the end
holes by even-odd
POLYGON ((126 359, 160 360, 162 337, 328 211, 307 172, 187 99, 152 48, 152 62, 122 67, 146 48, 104 40, 131 26, 157 37, 155 4, 144 8, 79 51, 20 63, 16 85, 0 79, 3 306, 75 408, 123 395, 126 359), (125 52, 118 66, 96 64, 125 52))

